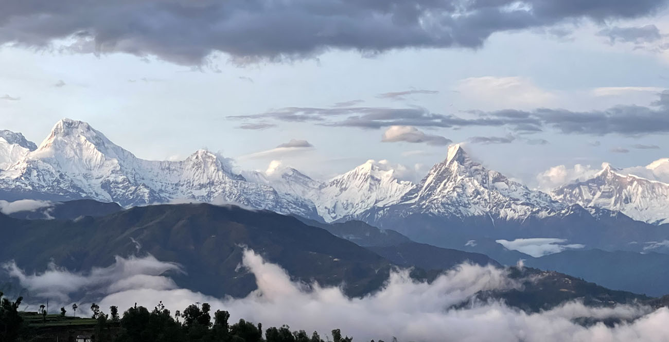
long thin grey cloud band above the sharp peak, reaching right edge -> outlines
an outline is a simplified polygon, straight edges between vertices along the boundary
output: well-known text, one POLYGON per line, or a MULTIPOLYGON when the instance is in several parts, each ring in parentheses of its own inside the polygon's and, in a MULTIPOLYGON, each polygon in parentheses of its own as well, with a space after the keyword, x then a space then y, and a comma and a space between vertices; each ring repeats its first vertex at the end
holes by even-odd
POLYGON ((564 134, 640 136, 669 133, 669 93, 663 92, 659 96, 660 100, 653 102, 652 106, 648 107, 622 105, 590 112, 539 108, 531 111, 465 112, 463 114, 466 117, 463 117, 432 113, 422 107, 289 107, 262 114, 228 116, 227 118, 312 122, 321 126, 371 129, 389 126, 504 127, 516 134, 534 134, 550 129, 564 134))

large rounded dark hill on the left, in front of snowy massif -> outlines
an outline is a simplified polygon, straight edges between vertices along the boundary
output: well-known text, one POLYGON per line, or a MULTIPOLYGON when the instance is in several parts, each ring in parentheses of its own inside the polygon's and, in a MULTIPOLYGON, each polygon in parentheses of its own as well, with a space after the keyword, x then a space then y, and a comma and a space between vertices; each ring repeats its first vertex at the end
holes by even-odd
POLYGON ((284 267, 302 281, 346 283, 349 295, 377 289, 391 263, 377 254, 289 216, 235 206, 180 204, 146 206, 101 218, 74 221, 0 218, 0 234, 13 241, 0 260, 14 259, 27 271, 50 260, 70 270, 114 262, 115 255, 151 253, 174 261, 188 275, 181 287, 209 295, 244 296, 256 288, 254 276, 237 269, 244 246, 284 267))

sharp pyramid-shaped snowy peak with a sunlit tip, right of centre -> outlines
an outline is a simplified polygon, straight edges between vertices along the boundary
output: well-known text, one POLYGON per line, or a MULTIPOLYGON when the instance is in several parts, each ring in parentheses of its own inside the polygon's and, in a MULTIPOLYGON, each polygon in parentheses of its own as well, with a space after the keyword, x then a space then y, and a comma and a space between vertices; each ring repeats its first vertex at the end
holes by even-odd
POLYGON ((399 205, 407 213, 438 216, 484 216, 517 219, 555 214, 565 205, 472 160, 459 144, 405 194, 399 205))

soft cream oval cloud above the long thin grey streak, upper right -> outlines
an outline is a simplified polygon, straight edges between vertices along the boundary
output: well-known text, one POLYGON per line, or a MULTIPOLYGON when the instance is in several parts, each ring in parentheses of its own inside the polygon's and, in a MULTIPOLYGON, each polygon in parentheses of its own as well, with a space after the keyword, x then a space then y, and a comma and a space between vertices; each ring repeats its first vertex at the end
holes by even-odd
POLYGON ((534 109, 555 104, 558 96, 539 88, 527 77, 470 77, 461 79, 456 90, 474 103, 487 102, 496 109, 534 109))

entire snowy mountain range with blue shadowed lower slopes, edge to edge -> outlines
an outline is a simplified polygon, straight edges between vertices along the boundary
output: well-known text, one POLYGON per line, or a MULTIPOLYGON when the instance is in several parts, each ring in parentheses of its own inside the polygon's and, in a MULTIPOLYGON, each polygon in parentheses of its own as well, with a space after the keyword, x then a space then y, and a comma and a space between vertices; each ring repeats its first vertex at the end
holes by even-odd
POLYGON ((142 160, 85 122, 68 119, 39 146, 2 131, 0 158, 5 200, 93 199, 125 208, 232 203, 318 222, 360 220, 448 248, 484 238, 537 237, 640 251, 669 239, 660 226, 669 217, 669 184, 609 166, 547 194, 489 170, 459 144, 416 184, 373 160, 326 181, 277 165, 234 172, 227 158, 206 150, 176 162, 142 160))

